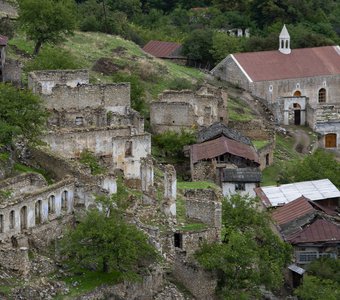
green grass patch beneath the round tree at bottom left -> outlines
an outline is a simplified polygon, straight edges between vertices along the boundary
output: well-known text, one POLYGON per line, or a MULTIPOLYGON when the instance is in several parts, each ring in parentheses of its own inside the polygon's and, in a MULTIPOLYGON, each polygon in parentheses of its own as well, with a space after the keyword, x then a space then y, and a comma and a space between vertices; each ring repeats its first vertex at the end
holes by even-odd
POLYGON ((58 295, 54 299, 74 299, 75 297, 87 293, 103 284, 116 284, 119 281, 119 278, 118 273, 115 272, 103 273, 83 271, 74 276, 64 277, 62 280, 66 283, 70 292, 67 295, 58 295), (73 283, 75 282, 78 282, 79 285, 73 286, 73 283))

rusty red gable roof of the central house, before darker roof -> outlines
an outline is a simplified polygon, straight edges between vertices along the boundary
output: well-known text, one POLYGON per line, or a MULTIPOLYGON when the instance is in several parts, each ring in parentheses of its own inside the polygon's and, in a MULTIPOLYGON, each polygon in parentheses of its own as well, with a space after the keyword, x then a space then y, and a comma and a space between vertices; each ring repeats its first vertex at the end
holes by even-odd
POLYGON ((258 163, 258 156, 251 146, 231 140, 225 136, 201 144, 191 145, 192 162, 211 159, 225 153, 243 157, 258 163))

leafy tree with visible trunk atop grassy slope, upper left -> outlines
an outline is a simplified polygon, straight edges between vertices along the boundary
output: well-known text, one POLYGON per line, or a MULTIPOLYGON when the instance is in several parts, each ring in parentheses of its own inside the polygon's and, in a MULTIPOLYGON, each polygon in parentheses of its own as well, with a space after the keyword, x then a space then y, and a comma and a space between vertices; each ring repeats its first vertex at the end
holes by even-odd
POLYGON ((75 28, 73 0, 18 0, 19 23, 35 42, 34 55, 44 43, 57 43, 75 28))

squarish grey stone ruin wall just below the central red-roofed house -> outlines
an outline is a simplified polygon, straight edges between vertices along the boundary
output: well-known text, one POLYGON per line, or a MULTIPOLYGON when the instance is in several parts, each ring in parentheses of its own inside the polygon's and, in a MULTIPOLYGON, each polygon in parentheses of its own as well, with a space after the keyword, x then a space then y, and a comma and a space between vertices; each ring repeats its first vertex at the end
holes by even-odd
POLYGON ((216 228, 222 223, 222 194, 211 189, 186 190, 184 196, 185 211, 189 219, 201 222, 216 228))

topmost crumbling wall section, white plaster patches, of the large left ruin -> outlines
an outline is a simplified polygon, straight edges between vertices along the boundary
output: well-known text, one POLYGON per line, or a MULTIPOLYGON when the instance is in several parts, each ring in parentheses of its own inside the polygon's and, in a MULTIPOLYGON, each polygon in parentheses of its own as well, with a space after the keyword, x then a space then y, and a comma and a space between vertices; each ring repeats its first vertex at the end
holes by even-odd
POLYGON ((48 70, 28 74, 28 87, 34 93, 50 94, 57 84, 76 87, 89 82, 88 70, 48 70))

